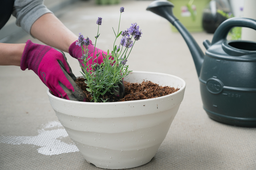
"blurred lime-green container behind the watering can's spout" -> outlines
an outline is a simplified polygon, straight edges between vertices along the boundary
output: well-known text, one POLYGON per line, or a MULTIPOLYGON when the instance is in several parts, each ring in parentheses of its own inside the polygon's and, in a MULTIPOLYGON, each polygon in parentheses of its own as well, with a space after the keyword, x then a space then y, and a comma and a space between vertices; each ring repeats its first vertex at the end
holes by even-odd
MULTIPOLYGON (((194 11, 194 20, 188 10, 187 4, 190 0, 168 0, 174 4, 173 14, 188 29, 189 32, 204 31, 202 27, 203 10, 210 0, 194 0, 192 2, 192 10, 194 11)), ((178 30, 172 26, 172 32, 178 30)))

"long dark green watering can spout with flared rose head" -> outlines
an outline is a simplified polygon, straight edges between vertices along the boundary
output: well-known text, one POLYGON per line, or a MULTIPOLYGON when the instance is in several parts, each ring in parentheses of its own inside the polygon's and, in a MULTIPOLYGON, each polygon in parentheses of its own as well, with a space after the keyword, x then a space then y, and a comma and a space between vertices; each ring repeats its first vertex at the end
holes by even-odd
POLYGON ((155 0, 153 1, 146 10, 151 11, 159 16, 162 16, 168 20, 173 26, 180 32, 188 48, 192 54, 194 64, 196 66, 196 72, 198 77, 200 76, 200 70, 204 62, 204 53, 198 46, 194 38, 188 32, 188 30, 181 24, 181 22, 173 15, 172 8, 174 5, 167 0, 155 0))

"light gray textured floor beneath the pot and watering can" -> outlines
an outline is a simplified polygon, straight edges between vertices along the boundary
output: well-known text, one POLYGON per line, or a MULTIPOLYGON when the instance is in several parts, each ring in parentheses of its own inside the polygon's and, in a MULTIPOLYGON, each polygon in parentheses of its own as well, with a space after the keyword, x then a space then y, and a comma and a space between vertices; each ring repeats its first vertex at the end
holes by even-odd
MULTIPOLYGON (((137 22, 142 38, 128 59, 130 70, 173 74, 186 81, 186 91, 170 130, 148 164, 134 170, 255 170, 256 128, 215 122, 202 108, 199 81, 192 57, 182 36, 172 33, 163 18, 146 11, 150 1, 122 0, 113 6, 80 1, 60 11, 60 20, 74 33, 92 38, 96 20, 102 17, 101 49, 112 47, 119 8, 124 6, 121 30, 137 22), (110 43, 109 43, 110 42, 110 43)), ((212 34, 193 33, 200 47, 212 34)), ((17 43, 31 39, 26 36, 17 43)), ((66 54, 75 75, 77 60, 66 54)), ((31 70, 0 66, 0 169, 1 170, 96 170, 88 164, 50 106, 46 86, 31 70)))

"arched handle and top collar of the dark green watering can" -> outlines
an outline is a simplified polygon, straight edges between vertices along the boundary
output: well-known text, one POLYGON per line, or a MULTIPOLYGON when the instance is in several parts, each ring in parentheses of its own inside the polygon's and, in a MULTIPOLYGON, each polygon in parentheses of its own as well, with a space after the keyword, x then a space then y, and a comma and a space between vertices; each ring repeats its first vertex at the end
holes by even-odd
POLYGON ((256 20, 234 17, 222 22, 214 33, 211 45, 205 42, 209 46, 206 55, 234 61, 256 61, 256 42, 226 39, 228 32, 236 26, 256 30, 256 20))

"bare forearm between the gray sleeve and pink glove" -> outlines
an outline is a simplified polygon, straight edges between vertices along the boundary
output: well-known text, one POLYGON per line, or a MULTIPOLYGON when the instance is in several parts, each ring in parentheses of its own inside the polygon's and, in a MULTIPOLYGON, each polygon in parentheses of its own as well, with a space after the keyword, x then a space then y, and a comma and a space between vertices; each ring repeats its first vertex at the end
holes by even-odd
POLYGON ((42 15, 31 27, 31 34, 41 42, 68 52, 69 46, 78 39, 62 22, 54 16, 47 13, 42 15))

